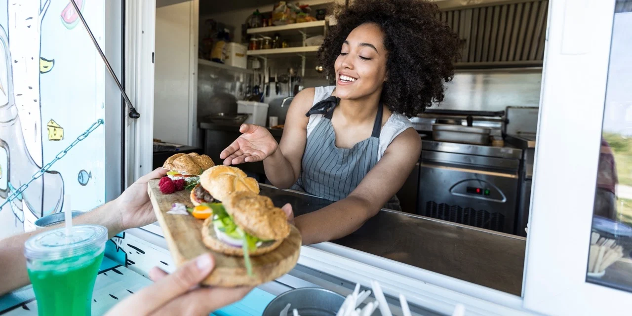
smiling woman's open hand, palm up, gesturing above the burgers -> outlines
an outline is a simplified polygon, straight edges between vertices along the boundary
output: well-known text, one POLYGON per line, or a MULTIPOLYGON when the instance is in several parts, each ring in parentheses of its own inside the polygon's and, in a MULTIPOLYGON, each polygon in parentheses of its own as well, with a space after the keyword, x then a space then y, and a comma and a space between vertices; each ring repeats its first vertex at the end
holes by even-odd
POLYGON ((279 148, 279 143, 264 127, 243 124, 239 131, 241 136, 219 154, 226 166, 263 161, 279 148))

